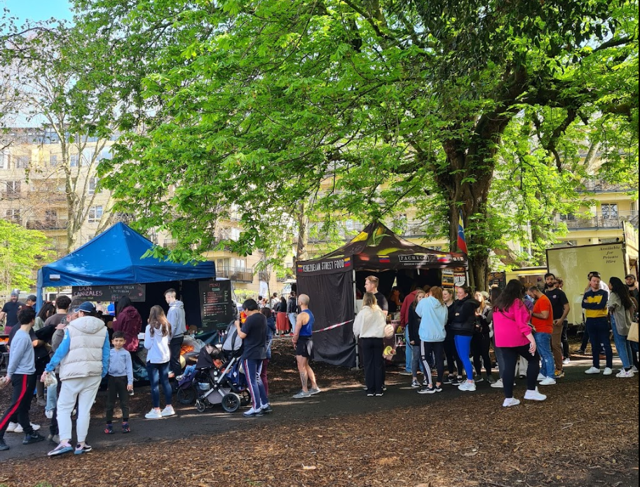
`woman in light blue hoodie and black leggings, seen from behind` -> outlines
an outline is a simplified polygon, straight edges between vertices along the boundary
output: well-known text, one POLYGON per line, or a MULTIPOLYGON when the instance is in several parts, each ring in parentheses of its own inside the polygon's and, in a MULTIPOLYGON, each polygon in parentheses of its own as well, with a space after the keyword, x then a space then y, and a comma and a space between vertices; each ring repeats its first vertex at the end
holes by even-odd
POLYGON ((433 394, 442 392, 442 376, 444 375, 444 338, 447 331, 444 330, 447 324, 447 305, 442 299, 442 287, 432 287, 430 296, 418 303, 416 313, 421 317, 420 328, 420 355, 425 368, 425 383, 418 390, 418 394, 433 394), (433 385, 431 376, 431 366, 428 357, 435 356, 435 368, 437 378, 433 385))

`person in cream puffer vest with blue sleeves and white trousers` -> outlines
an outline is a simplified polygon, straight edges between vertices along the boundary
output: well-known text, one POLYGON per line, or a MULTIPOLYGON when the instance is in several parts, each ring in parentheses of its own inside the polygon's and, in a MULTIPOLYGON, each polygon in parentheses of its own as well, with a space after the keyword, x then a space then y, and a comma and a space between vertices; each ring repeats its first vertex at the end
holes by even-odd
POLYGON ((109 334, 100 318, 95 317, 95 306, 82 303, 74 310, 79 314, 76 320, 67 325, 64 338, 52 359, 46 366, 46 374, 60 364, 60 397, 57 399, 57 423, 60 430, 60 444, 48 453, 49 456, 62 455, 74 451, 71 441, 72 411, 78 402, 76 435, 78 443, 74 453, 81 455, 91 451, 86 444, 91 406, 100 381, 109 369, 109 334))

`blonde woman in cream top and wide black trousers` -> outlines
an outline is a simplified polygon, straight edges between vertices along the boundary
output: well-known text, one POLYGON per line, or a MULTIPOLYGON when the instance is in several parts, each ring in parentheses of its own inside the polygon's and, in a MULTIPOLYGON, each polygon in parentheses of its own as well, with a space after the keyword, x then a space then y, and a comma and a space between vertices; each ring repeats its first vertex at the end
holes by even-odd
POLYGON ((362 296, 362 310, 353 322, 353 335, 360 338, 362 346, 362 364, 365 367, 365 385, 367 396, 381 396, 384 382, 384 362, 382 359, 382 340, 386 318, 378 306, 373 293, 362 296))

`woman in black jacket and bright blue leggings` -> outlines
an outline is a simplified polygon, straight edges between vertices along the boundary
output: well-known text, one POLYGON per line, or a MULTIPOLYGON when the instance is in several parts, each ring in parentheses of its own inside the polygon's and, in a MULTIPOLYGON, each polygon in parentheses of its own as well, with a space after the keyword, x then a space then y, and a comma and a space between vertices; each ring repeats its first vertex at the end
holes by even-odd
POLYGON ((471 339, 475 331, 475 311, 480 303, 472 299, 470 293, 471 289, 468 286, 458 287, 456 290, 458 300, 449 308, 449 327, 454 334, 456 350, 467 374, 467 380, 458 385, 458 389, 463 391, 475 390, 469 355, 471 353, 471 339))

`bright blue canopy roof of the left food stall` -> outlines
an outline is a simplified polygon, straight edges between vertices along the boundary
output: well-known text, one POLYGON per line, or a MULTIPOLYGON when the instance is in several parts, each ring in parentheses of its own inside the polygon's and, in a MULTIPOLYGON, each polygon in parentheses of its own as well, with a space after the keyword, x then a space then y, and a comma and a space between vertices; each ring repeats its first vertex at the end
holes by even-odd
POLYGON ((215 279, 215 265, 204 261, 180 263, 142 257, 154 243, 123 223, 100 233, 71 254, 38 271, 36 308, 44 287, 109 286, 183 280, 215 279))

